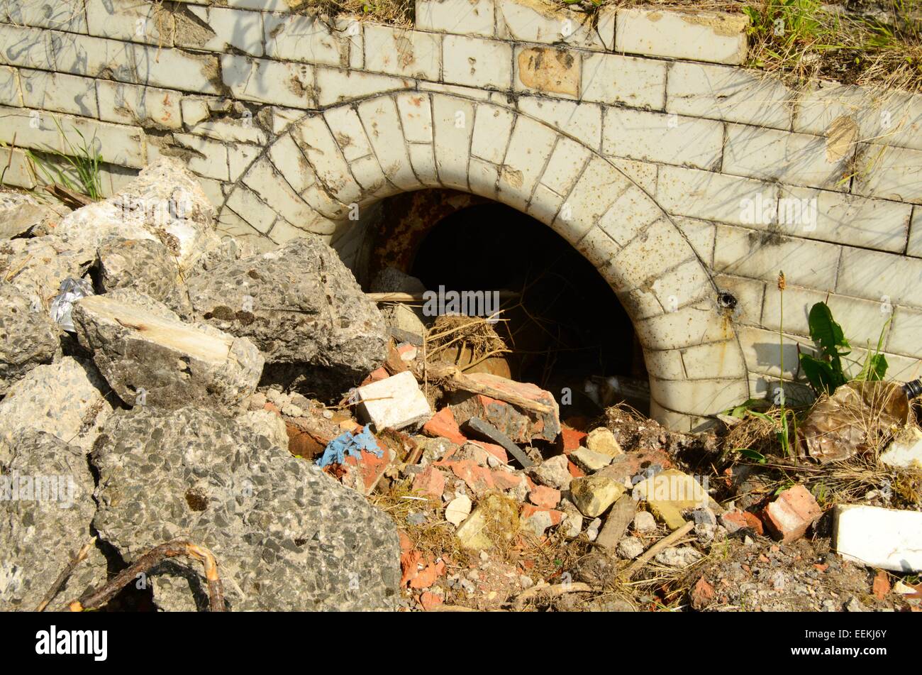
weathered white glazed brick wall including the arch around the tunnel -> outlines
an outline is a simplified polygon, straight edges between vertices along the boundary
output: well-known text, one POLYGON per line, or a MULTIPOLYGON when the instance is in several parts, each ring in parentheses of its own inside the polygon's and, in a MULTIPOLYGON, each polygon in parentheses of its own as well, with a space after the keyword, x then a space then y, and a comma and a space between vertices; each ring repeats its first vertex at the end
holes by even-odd
POLYGON ((312 231, 345 257, 350 215, 384 196, 497 199, 609 280, 678 427, 779 378, 796 391, 827 297, 856 348, 892 318, 892 374, 922 374, 922 98, 796 91, 739 66, 745 28, 638 9, 590 25, 536 0, 417 0, 412 30, 284 0, 0 0, 6 181, 31 187, 21 148, 76 128, 109 193, 180 157, 222 231, 263 249, 312 231))

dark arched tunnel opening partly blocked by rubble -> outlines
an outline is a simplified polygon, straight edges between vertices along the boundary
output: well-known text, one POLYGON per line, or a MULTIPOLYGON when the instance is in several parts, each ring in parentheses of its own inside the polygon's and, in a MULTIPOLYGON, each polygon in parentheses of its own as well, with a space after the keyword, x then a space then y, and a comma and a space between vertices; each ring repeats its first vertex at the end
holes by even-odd
POLYGON ((493 328, 509 352, 499 369, 494 362, 477 370, 536 383, 559 400, 570 391, 567 415, 594 415, 621 400, 649 411, 630 317, 597 268, 537 219, 477 195, 431 189, 384 199, 361 225, 355 271, 366 290, 396 267, 427 290, 501 292, 502 321, 493 328))

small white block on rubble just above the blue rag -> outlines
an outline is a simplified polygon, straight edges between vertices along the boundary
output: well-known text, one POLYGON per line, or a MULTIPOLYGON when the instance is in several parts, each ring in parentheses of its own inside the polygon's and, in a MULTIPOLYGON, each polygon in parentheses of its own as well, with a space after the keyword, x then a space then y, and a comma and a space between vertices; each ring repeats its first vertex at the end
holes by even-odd
POLYGON ((360 386, 356 391, 361 416, 372 422, 378 432, 420 426, 432 416, 429 401, 409 371, 360 386))

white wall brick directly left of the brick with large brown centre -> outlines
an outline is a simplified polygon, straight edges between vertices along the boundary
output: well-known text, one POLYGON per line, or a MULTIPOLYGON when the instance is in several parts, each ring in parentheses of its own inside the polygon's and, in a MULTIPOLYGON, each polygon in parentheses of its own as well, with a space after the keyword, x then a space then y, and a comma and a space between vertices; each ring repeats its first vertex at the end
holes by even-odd
POLYGON ((442 45, 446 83, 512 89, 513 49, 508 42, 445 35, 442 45))

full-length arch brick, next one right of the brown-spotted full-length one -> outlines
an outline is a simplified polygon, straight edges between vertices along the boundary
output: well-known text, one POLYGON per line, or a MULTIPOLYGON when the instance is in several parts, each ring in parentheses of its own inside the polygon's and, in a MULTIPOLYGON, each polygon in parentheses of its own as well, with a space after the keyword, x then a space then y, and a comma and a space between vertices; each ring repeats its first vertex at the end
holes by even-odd
POLYGON ((608 161, 594 155, 554 219, 554 230, 570 243, 578 242, 632 185, 608 161))

